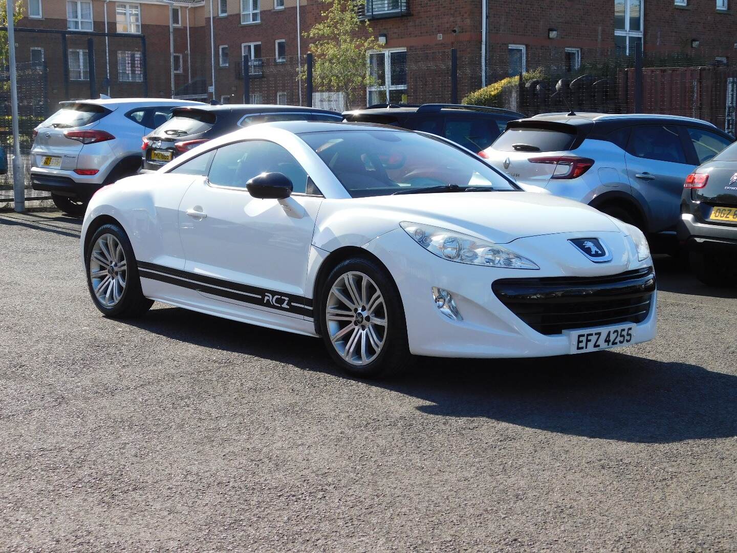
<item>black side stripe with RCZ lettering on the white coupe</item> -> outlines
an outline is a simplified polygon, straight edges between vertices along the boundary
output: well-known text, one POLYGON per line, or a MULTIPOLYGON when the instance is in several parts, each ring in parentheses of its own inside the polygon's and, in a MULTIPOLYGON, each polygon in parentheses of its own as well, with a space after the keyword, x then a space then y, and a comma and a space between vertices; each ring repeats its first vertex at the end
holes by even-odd
POLYGON ((179 269, 145 261, 139 261, 138 266, 139 274, 144 279, 167 282, 167 284, 189 288, 211 296, 234 299, 237 302, 250 303, 269 309, 295 313, 296 315, 312 316, 312 299, 310 298, 265 288, 256 288, 255 286, 189 273, 188 271, 180 271, 179 269), (214 288, 216 286, 219 288, 214 288))

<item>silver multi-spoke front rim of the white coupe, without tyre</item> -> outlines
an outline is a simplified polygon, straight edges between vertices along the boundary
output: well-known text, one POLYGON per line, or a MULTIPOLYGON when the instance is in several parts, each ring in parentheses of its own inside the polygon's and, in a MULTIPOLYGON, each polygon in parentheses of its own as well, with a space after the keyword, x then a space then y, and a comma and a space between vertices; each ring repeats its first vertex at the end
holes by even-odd
POLYGON ((330 288, 325 307, 330 341, 352 365, 366 365, 381 353, 387 316, 379 287, 366 274, 345 273, 330 288))

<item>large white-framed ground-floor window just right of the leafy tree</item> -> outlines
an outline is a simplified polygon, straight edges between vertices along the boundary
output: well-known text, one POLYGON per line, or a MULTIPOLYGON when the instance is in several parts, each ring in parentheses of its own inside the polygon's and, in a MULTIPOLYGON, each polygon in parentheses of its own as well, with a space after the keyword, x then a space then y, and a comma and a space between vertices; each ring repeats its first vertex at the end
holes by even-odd
POLYGON ((407 50, 391 49, 368 53, 368 105, 407 103, 407 50))

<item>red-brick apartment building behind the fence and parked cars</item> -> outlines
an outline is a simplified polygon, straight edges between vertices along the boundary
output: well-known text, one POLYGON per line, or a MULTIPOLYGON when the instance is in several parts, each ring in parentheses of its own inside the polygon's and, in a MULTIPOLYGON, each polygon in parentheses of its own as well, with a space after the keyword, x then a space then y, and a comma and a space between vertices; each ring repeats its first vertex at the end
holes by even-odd
MULTIPOLYGON (((537 66, 575 70, 638 48, 729 63, 737 42, 731 1, 737 0, 367 0, 357 10, 385 49, 368 56, 377 84, 366 102, 449 100, 451 49, 458 52, 459 98, 537 66)), ((48 67, 52 105, 91 91, 168 97, 172 74, 175 96, 240 102, 243 54, 251 60, 251 102, 307 102, 297 80, 309 51, 301 33, 326 9, 319 0, 24 2, 18 27, 56 31, 16 35, 18 62, 43 60, 48 67)))

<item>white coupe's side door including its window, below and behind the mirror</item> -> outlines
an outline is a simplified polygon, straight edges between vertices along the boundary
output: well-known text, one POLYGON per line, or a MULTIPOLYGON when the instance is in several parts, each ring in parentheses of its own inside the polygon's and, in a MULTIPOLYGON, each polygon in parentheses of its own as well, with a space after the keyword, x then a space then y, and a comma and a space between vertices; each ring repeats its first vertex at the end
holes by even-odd
POLYGON ((284 316, 311 315, 307 260, 322 196, 287 150, 265 140, 224 145, 206 178, 189 187, 179 208, 185 271, 212 302, 284 316), (287 175, 285 200, 253 198, 246 183, 261 173, 287 175), (310 194, 307 194, 308 191, 310 194))

